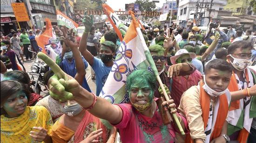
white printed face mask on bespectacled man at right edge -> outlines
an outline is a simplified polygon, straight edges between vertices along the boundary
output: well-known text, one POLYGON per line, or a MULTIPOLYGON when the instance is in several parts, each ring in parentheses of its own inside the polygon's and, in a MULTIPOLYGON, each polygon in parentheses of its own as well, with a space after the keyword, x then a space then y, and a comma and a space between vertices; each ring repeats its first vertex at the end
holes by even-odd
MULTIPOLYGON (((231 55, 229 55, 231 56, 231 55)), ((234 60, 231 62, 232 66, 236 68, 237 70, 243 71, 245 68, 248 68, 252 64, 252 60, 246 60, 246 59, 238 59, 231 56, 234 60)))

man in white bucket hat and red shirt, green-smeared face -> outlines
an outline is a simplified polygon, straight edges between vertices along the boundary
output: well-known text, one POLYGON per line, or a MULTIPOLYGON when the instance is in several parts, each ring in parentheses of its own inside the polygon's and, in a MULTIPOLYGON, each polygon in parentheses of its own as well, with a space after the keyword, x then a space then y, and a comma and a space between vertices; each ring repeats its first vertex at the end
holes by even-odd
POLYGON ((178 50, 175 56, 170 57, 172 64, 188 63, 192 69, 188 72, 180 73, 178 77, 172 77, 171 96, 177 106, 180 105, 180 99, 183 92, 190 87, 197 85, 201 80, 202 74, 191 64, 192 59, 194 58, 195 53, 190 53, 185 49, 178 50))

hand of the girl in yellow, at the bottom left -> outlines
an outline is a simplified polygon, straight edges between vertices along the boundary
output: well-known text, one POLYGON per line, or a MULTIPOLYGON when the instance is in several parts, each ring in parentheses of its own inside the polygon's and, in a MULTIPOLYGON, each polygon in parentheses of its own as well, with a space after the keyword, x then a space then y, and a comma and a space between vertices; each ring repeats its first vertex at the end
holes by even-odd
POLYGON ((43 142, 47 138, 47 130, 42 127, 33 127, 34 130, 38 131, 30 131, 29 136, 33 138, 34 141, 43 142))

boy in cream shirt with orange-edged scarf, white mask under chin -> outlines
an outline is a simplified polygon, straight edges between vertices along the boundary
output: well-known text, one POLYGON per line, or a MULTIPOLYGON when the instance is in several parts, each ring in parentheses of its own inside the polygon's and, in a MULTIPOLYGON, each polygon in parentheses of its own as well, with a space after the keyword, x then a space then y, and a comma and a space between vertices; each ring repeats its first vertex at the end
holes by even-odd
POLYGON ((186 116, 190 134, 185 143, 226 143, 226 117, 231 95, 227 87, 232 73, 231 65, 214 59, 205 66, 205 75, 197 86, 183 93, 178 110, 186 116))

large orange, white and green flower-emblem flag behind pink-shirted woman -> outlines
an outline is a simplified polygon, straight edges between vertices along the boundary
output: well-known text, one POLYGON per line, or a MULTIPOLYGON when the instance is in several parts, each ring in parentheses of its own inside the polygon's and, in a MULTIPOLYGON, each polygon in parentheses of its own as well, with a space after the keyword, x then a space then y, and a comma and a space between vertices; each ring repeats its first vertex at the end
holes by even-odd
POLYGON ((126 79, 136 69, 147 69, 158 74, 155 63, 141 33, 140 25, 132 11, 132 22, 117 52, 114 65, 108 75, 107 81, 101 90, 100 97, 108 99, 110 103, 127 103, 126 79), (151 60, 148 58, 151 57, 151 60), (151 64, 154 64, 153 69, 151 64))

